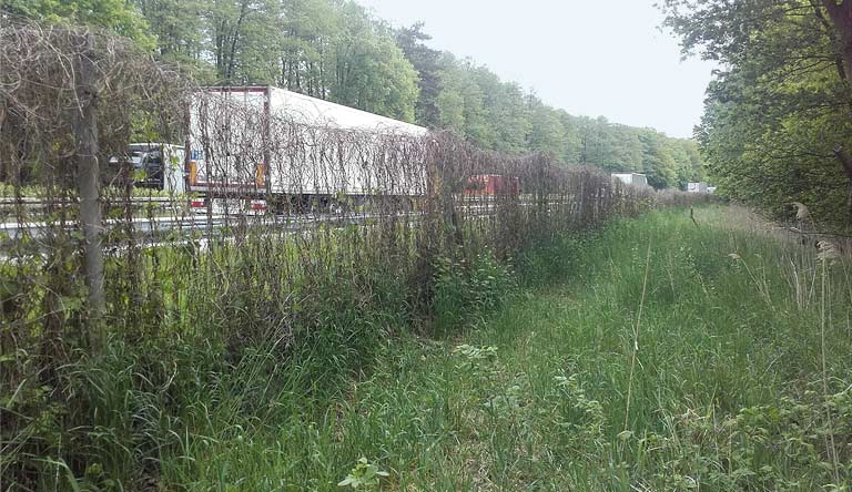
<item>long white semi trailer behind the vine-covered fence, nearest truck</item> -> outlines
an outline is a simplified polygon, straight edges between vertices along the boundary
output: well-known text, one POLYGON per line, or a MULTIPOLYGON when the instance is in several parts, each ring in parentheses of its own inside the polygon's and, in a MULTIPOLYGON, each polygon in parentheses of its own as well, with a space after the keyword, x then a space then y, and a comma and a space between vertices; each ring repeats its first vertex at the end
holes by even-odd
POLYGON ((260 214, 425 194, 422 163, 386 155, 381 145, 393 134, 395 148, 420 148, 428 133, 422 126, 273 86, 205 89, 187 117, 185 189, 196 209, 260 214))

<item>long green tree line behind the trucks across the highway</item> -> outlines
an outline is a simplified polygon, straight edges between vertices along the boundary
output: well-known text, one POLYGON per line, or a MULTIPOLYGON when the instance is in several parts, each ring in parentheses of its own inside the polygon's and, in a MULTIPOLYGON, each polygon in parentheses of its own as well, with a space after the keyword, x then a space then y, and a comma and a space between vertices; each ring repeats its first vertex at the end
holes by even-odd
POLYGON ((657 188, 703 180, 692 140, 576 116, 470 59, 343 0, 2 0, 9 14, 111 29, 202 84, 271 84, 567 165, 639 172, 657 188))

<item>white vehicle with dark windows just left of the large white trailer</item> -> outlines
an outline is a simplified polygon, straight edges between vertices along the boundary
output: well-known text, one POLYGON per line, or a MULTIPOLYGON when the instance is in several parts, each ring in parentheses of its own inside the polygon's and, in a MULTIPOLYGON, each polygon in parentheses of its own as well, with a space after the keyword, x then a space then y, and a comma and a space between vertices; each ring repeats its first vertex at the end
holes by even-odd
POLYGON ((183 151, 183 145, 132 143, 124 155, 110 158, 110 165, 116 172, 125 161, 131 165, 134 186, 179 195, 186 192, 183 151))

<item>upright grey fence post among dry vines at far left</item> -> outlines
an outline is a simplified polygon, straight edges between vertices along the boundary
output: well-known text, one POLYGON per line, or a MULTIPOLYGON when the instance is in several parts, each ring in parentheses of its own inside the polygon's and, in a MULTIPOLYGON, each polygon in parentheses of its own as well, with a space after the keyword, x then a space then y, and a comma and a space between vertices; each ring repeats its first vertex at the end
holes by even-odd
MULTIPOLYGON (((80 225, 85 238, 85 283, 89 288, 91 319, 99 321, 105 311, 103 291, 103 252, 101 249, 101 204, 98 168, 98 76, 94 65, 94 35, 79 37, 80 52, 75 60, 75 92, 79 109, 74 121, 77 186, 80 194, 80 225)), ((95 335, 95 334, 92 334, 95 335)), ((94 336, 95 345, 103 341, 94 336)))

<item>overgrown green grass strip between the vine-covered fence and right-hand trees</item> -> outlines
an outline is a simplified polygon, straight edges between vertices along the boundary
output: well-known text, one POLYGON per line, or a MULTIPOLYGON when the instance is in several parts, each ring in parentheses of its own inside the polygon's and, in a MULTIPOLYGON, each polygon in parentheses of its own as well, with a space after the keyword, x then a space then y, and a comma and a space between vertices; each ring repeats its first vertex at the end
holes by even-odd
POLYGON ((266 378, 246 358, 199 396, 215 411, 162 457, 161 484, 346 490, 365 458, 353 476, 387 476, 359 490, 846 490, 850 265, 742 214, 613 222, 519 258, 509 296, 501 268, 448 265, 447 322, 505 301, 462 335, 388 341, 338 392, 277 381, 246 413, 266 378))

